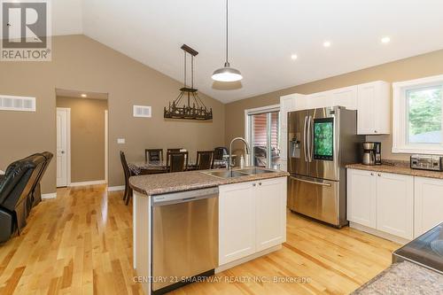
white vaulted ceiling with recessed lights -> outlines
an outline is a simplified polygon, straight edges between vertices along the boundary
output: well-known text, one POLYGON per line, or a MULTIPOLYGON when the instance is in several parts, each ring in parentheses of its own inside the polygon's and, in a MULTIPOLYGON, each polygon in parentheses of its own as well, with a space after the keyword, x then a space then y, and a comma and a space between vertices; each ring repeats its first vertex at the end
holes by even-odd
POLYGON ((224 103, 443 48, 440 0, 231 0, 229 61, 244 79, 220 85, 224 0, 52 3, 54 35, 88 35, 178 81, 190 45, 197 88, 224 103))

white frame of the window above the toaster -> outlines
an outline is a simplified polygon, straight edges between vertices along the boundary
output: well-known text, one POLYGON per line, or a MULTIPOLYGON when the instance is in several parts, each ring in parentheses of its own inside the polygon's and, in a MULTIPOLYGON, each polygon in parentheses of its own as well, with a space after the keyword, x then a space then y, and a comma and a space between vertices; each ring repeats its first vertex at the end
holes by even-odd
MULTIPOLYGON (((443 88, 443 74, 422 79, 392 83, 392 153, 418 153, 443 155, 441 144, 410 144, 408 142, 408 97, 407 91, 440 86, 443 88)), ((443 99, 442 99, 443 110, 443 99)), ((442 114, 443 133, 443 114, 442 114)), ((443 135, 442 135, 443 136, 443 135)), ((442 137, 443 138, 443 137, 442 137)))

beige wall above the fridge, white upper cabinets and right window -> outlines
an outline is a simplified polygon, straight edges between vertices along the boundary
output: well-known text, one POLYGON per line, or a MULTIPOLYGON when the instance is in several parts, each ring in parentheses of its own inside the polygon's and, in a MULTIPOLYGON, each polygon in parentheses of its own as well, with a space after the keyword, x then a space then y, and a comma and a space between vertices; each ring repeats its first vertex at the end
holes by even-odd
MULTIPOLYGON (((280 97, 284 95, 291 93, 311 94, 377 80, 399 82, 436 74, 443 74, 443 50, 242 99, 225 107, 225 143, 229 143, 230 139, 235 136, 244 136, 245 109, 279 104, 280 97)), ((384 159, 408 159, 408 154, 392 154, 392 136, 367 136, 367 139, 382 142, 382 157, 384 159)), ((240 148, 240 146, 237 145, 236 148, 240 148)))

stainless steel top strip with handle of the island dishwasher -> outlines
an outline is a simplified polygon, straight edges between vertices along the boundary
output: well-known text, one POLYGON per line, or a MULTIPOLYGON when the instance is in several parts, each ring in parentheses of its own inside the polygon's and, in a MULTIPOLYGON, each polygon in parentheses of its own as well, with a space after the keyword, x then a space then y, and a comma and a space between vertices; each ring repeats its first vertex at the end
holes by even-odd
POLYGON ((152 206, 167 206, 197 201, 204 198, 215 198, 218 197, 218 194, 218 187, 202 190, 179 191, 170 194, 152 196, 152 206))

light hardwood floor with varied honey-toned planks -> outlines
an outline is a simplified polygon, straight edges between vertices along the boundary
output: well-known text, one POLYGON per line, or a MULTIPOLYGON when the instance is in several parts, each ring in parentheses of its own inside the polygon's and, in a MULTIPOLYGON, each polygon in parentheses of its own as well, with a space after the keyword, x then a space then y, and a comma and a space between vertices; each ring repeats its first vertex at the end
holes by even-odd
MULTIPOLYGON (((132 206, 105 186, 58 190, 20 237, 0 245, 0 294, 141 294, 132 269, 132 206)), ((282 250, 174 294, 347 294, 391 264, 399 245, 288 213, 282 250), (307 283, 273 283, 284 277, 307 283), (219 282, 220 280, 220 282, 219 282)))

